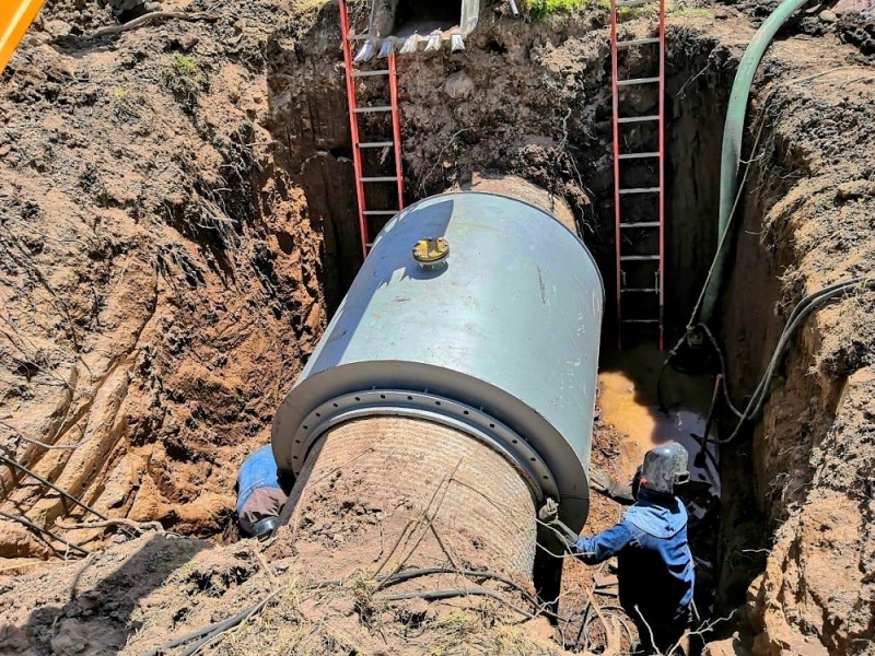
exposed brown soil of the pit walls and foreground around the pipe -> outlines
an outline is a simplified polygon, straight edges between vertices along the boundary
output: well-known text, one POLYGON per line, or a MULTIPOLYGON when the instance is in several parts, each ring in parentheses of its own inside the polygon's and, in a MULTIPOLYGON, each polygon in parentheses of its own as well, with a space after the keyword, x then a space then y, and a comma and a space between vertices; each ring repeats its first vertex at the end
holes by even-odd
MULTIPOLYGON (((107 516, 209 540, 62 529, 56 520, 94 517, 0 468, 4 512, 86 548, 124 542, 85 563, 11 560, 0 652, 141 653, 275 586, 284 591, 248 624, 257 631, 214 652, 271 653, 285 641, 295 653, 401 653, 420 631, 476 653, 559 652, 546 620, 514 626, 520 617, 487 598, 374 607, 361 586, 314 596, 306 582, 331 575, 330 546, 314 532, 215 546, 237 466, 268 440, 280 395, 358 268, 349 124, 332 4, 163 4, 214 20, 92 42, 82 33, 112 24, 108 10, 58 0, 3 75, 0 436, 8 457, 107 516)), ((860 11, 825 11, 784 31, 755 85, 754 163, 722 317, 736 401, 756 386, 794 302, 873 270, 873 24, 860 11)), ((715 246, 728 90, 762 15, 739 4, 669 17, 674 331, 715 246)), ((524 23, 489 4, 464 55, 401 59, 400 87, 408 200, 475 172, 518 175, 570 203, 610 288, 606 19, 593 7, 524 23)), ((629 26, 638 35, 643 21, 629 26)), ((623 102, 646 113, 655 97, 623 102)), ((629 139, 645 147, 650 136, 629 139)), ((861 291, 810 318, 762 421, 723 452, 718 613, 735 609, 722 630, 737 635, 714 653, 871 653, 874 306, 861 291)), ((604 427, 594 457, 617 473, 619 441, 604 427)), ((340 519, 349 511, 332 511, 331 540, 358 539, 361 522, 340 519)), ((616 513, 598 500, 587 530, 616 513)), ((0 524, 0 555, 58 553, 59 542, 0 524)), ((560 614, 585 605, 592 575, 565 563, 560 614)))

